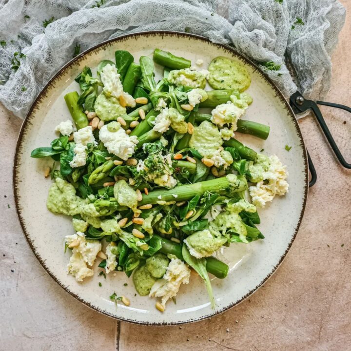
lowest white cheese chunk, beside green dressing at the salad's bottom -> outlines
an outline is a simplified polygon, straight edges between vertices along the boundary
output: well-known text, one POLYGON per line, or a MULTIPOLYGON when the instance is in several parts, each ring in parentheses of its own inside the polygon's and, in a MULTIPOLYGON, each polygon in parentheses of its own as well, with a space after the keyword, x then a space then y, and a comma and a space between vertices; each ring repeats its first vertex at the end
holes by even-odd
POLYGON ((149 297, 161 297, 165 308, 167 301, 175 297, 181 284, 189 284, 190 269, 187 264, 173 256, 162 279, 156 281, 150 290, 149 297))

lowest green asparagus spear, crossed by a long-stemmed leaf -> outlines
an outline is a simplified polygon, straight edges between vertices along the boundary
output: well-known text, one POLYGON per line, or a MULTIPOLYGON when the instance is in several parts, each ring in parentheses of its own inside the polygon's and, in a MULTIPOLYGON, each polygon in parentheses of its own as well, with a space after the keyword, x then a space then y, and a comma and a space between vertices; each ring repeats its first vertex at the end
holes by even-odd
MULTIPOLYGON (((161 249, 160 252, 163 254, 174 254, 177 258, 184 261, 181 246, 174 241, 160 237, 161 249)), ((219 261, 215 257, 206 257, 206 270, 208 273, 215 275, 217 278, 224 279, 229 271, 229 267, 222 261, 219 261)))

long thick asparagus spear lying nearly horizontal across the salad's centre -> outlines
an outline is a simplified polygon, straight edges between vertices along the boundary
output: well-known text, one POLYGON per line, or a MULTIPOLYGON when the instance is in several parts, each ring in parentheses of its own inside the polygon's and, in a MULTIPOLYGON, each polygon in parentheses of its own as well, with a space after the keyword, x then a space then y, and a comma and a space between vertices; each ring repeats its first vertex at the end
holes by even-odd
MULTIPOLYGON (((234 175, 231 175, 234 176, 234 175)), ((194 184, 180 185, 168 190, 155 190, 149 192, 148 195, 143 195, 143 199, 139 202, 140 205, 156 204, 157 201, 173 201, 174 195, 177 195, 177 201, 184 201, 193 198, 195 195, 202 195, 206 191, 216 193, 226 193, 229 190, 232 192, 240 192, 247 188, 246 181, 235 177, 235 181, 230 181, 228 176, 205 180, 194 184)))

